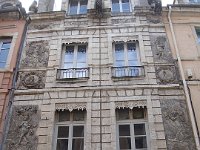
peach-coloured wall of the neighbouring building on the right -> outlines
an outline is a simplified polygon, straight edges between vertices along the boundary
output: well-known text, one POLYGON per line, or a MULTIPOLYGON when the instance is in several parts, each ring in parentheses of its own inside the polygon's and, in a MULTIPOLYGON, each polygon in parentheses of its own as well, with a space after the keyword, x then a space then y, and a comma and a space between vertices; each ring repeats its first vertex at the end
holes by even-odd
MULTIPOLYGON (((199 111, 199 79, 200 79, 200 59, 199 50, 200 45, 198 41, 198 34, 196 29, 200 27, 199 21, 199 8, 195 5, 184 5, 179 7, 174 5, 172 7, 172 23, 175 33, 175 39, 177 42, 178 51, 183 66, 184 76, 187 81, 191 103, 194 110, 194 115, 197 123, 198 130, 200 129, 200 111, 199 111), (198 12, 198 13, 197 13, 198 12), (184 14, 184 15, 183 15, 184 14)), ((167 19, 168 10, 163 13, 164 23, 168 39, 170 41, 170 47, 173 53, 173 57, 176 59, 176 51, 171 36, 171 30, 169 28, 167 19)))

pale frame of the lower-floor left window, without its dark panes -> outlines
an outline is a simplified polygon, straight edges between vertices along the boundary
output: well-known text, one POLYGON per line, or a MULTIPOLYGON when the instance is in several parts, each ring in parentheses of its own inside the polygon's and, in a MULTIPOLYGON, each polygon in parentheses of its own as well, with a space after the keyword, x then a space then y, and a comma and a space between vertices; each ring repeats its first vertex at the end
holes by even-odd
MULTIPOLYGON (((78 110, 81 111, 81 110, 78 110)), ((73 142, 73 127, 74 126, 83 126, 84 127, 84 136, 83 136, 83 149, 85 149, 85 140, 86 140, 86 111, 84 114, 84 121, 73 121, 73 111, 70 112, 70 121, 63 121, 58 122, 58 113, 56 114, 56 124, 55 124, 55 141, 54 141, 54 150, 57 148, 57 135, 58 135, 58 127, 60 126, 68 126, 69 127, 69 137, 68 138, 61 138, 61 139, 68 139, 68 150, 72 150, 72 142, 73 142)))

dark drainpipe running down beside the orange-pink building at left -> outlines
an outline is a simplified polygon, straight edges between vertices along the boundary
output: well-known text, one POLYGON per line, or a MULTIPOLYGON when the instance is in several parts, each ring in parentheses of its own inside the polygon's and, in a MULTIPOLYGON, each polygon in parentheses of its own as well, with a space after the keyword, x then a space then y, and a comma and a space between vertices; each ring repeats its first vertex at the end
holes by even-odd
POLYGON ((27 27, 28 24, 30 23, 31 19, 29 16, 26 16, 26 23, 24 25, 24 30, 22 33, 22 37, 21 37, 21 42, 20 42, 20 46, 19 46, 19 52, 17 54, 17 60, 16 60, 16 66, 13 69, 13 78, 12 78, 12 85, 11 85, 11 89, 9 91, 9 102, 8 102, 8 106, 7 106, 7 114, 6 114, 6 119, 5 119, 5 123, 4 123, 4 129, 3 129, 3 139, 2 139, 2 145, 0 147, 0 150, 4 150, 5 144, 6 144, 6 138, 8 135, 8 130, 10 127, 10 121, 11 121, 11 115, 12 115, 12 104, 13 104, 13 100, 14 100, 14 92, 16 89, 16 82, 17 82, 17 75, 18 75, 18 71, 19 71, 19 65, 20 65, 20 59, 21 59, 21 54, 22 54, 22 50, 23 50, 23 46, 24 46, 24 41, 26 39, 26 33, 27 33, 27 27))

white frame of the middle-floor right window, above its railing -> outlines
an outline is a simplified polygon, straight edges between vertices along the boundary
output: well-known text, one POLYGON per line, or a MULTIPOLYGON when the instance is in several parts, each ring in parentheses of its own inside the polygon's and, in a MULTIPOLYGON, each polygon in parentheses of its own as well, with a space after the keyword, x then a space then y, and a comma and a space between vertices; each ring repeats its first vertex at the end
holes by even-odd
MULTIPOLYGON (((116 62, 116 58, 115 58, 115 44, 120 44, 120 43, 124 43, 124 63, 125 65, 124 66, 129 66, 128 65, 128 48, 127 48, 127 43, 135 43, 136 45, 136 53, 137 53, 137 61, 138 61, 138 65, 137 66, 140 66, 141 65, 141 61, 140 61, 140 54, 139 54, 139 44, 138 42, 132 42, 132 41, 128 41, 128 42, 113 42, 113 57, 114 57, 114 65, 115 65, 115 62, 116 62)), ((114 66, 114 67, 118 67, 118 66, 114 66)))

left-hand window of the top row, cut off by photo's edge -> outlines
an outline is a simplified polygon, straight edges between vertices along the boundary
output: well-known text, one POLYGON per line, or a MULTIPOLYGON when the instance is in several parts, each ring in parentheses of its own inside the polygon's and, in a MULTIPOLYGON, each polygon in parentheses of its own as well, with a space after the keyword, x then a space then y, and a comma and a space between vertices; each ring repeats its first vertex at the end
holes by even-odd
POLYGON ((70 0, 69 14, 86 14, 87 13, 87 0, 70 0))

